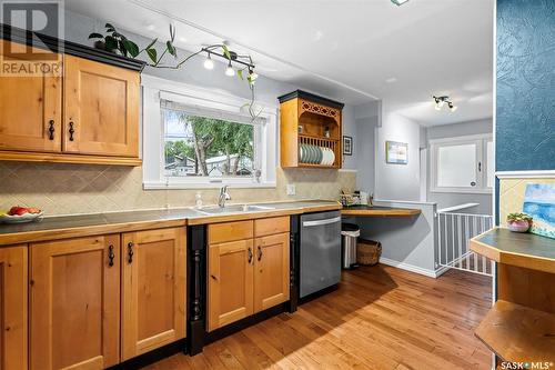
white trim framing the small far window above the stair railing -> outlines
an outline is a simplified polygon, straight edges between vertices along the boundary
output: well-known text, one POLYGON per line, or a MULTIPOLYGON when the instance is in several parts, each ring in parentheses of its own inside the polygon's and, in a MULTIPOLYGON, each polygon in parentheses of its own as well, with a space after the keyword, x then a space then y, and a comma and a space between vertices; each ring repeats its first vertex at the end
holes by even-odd
POLYGON ((431 184, 430 192, 450 192, 450 193, 471 193, 471 194, 491 194, 493 188, 487 188, 487 160, 486 149, 487 142, 493 141, 493 136, 490 133, 472 134, 464 137, 453 137, 444 139, 430 140, 431 151, 431 184), (476 187, 461 188, 461 187, 437 187, 437 149, 442 146, 458 146, 465 143, 477 143, 476 159, 482 162, 482 170, 476 168, 476 187))

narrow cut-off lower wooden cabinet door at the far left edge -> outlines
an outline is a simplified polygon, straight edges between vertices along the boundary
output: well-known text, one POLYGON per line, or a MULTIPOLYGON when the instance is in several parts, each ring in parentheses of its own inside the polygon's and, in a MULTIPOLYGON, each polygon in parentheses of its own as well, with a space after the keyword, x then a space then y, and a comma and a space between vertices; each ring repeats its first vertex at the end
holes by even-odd
POLYGON ((27 246, 0 248, 0 369, 27 369, 27 246))

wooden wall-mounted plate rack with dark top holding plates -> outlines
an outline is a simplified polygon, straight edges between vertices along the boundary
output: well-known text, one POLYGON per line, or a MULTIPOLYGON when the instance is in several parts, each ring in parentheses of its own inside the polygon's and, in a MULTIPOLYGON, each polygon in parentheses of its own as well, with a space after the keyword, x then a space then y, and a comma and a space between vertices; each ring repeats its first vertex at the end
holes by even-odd
POLYGON ((282 168, 330 168, 342 164, 343 103, 301 90, 278 98, 280 100, 280 144, 282 168), (331 149, 331 164, 301 161, 301 146, 331 149))

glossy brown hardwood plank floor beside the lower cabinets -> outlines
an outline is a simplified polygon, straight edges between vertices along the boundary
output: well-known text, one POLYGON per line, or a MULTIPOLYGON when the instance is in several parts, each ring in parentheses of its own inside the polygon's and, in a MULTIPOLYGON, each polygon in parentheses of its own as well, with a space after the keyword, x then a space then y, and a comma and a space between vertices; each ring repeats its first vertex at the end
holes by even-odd
POLYGON ((473 334, 490 307, 486 277, 364 267, 293 314, 148 369, 490 369, 491 353, 473 334))

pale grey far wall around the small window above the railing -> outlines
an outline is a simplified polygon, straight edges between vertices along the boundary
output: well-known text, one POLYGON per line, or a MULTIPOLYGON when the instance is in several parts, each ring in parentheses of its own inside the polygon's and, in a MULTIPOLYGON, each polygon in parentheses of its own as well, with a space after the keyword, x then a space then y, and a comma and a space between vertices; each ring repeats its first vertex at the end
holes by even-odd
MULTIPOLYGON (((481 134, 481 133, 492 133, 493 134, 493 122, 492 119, 468 121, 453 124, 434 126, 426 129, 426 141, 433 139, 444 139, 444 138, 456 138, 470 134, 481 134)), ((428 142, 426 146, 430 147, 428 142)), ((428 151, 430 153, 430 151, 428 151)), ((431 183, 431 171, 432 163, 430 162, 430 157, 427 156, 427 183, 431 183)), ((437 208, 447 208, 464 203, 480 203, 472 209, 464 210, 463 212, 481 213, 481 214, 493 214, 492 213, 492 194, 468 194, 468 193, 445 193, 445 192, 431 192, 430 187, 427 189, 427 201, 436 202, 437 208)))

